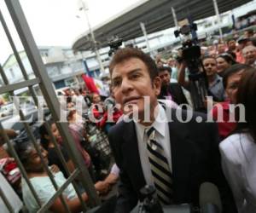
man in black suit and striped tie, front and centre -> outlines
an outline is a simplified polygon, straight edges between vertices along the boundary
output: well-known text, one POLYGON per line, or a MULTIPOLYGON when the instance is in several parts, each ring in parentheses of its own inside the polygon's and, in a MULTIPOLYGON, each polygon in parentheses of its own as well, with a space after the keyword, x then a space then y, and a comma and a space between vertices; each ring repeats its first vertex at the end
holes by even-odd
POLYGON ((146 184, 155 187, 161 204, 198 206, 199 187, 205 181, 218 186, 224 212, 236 212, 220 167, 216 125, 206 123, 203 114, 162 107, 157 101, 157 67, 141 50, 119 49, 109 70, 115 100, 129 118, 133 116, 113 126, 108 135, 120 170, 116 212, 130 212, 146 184), (189 122, 181 122, 189 115, 189 122))

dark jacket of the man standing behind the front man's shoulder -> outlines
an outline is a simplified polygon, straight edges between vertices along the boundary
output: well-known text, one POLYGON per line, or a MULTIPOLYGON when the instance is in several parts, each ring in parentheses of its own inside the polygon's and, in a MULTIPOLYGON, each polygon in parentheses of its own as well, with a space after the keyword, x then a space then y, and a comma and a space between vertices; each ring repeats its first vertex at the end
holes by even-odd
POLYGON ((160 90, 159 99, 166 99, 167 91, 172 95, 172 101, 177 105, 188 104, 188 101, 183 94, 183 89, 178 83, 170 83, 167 88, 162 87, 160 90))

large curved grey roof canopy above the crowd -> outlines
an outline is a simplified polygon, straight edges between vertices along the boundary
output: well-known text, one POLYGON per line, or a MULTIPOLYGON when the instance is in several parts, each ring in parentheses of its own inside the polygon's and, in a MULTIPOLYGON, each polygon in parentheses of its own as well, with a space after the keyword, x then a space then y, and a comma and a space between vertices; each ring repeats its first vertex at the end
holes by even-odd
MULTIPOLYGON (((235 9, 251 0, 218 0, 219 13, 235 9)), ((109 7, 111 7, 109 5, 109 7)), ((108 46, 108 39, 113 36, 122 37, 124 41, 141 37, 143 32, 140 22, 146 26, 147 32, 159 32, 174 26, 172 9, 177 14, 177 20, 191 17, 200 20, 215 14, 212 0, 143 0, 130 9, 116 15, 101 26, 93 28, 96 41, 101 47, 108 46)), ((74 43, 73 50, 88 50, 90 33, 84 32, 74 43)))

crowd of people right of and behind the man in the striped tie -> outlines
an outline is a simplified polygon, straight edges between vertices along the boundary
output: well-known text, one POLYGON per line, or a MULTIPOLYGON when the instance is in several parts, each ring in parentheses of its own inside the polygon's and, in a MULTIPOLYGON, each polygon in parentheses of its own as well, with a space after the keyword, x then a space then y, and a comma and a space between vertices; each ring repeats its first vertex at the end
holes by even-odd
MULTIPOLYGON (((256 181, 254 172, 256 165, 254 157, 256 148, 256 119, 255 112, 253 112, 253 109, 256 107, 254 98, 256 89, 253 83, 256 77, 254 35, 252 31, 246 31, 242 37, 237 39, 231 38, 225 42, 219 42, 217 45, 208 46, 207 49, 201 49, 202 66, 199 67, 201 72, 206 73, 207 95, 211 96, 213 100, 212 105, 210 105, 212 107, 207 108, 207 114, 212 115, 218 124, 218 145, 221 154, 219 160, 221 161, 222 172, 224 172, 225 179, 232 191, 238 212, 256 211, 254 183, 256 181), (230 105, 236 106, 239 104, 245 109, 245 119, 241 122, 239 122, 241 112, 237 108, 230 107, 230 105), (221 115, 220 120, 218 119, 219 115, 221 115)), ((144 61, 144 63, 148 66, 147 62, 144 61)), ((180 59, 175 60, 173 57, 169 58, 169 60, 161 59, 159 55, 155 63, 158 66, 158 76, 161 79, 160 95, 158 95, 158 98, 172 100, 177 105, 190 104, 193 107, 190 96, 191 81, 188 78, 189 70, 186 62, 180 59)), ((118 70, 118 72, 120 71, 118 70)), ((149 68, 148 72, 151 78, 149 68)), ((153 80, 153 78, 151 79, 153 80)), ((208 107, 207 101, 206 98, 205 107, 208 107)), ((202 129, 201 134, 203 134, 202 129)), ((205 139, 205 143, 211 139, 212 137, 208 136, 205 139)), ((121 140, 118 143, 121 143, 121 140)), ((118 144, 115 144, 115 146, 119 147, 118 144)), ((186 152, 186 148, 183 147, 183 152, 186 152)), ((215 154, 218 155, 218 152, 215 154)), ((118 152, 116 155, 119 161, 123 160, 122 158, 124 157, 120 156, 118 152)), ((126 168, 123 170, 126 171, 126 168)), ((143 175, 147 176, 144 168, 143 175)), ((147 179, 146 182, 148 183, 147 179)), ((176 199, 175 196, 173 199, 176 199)), ((224 210, 224 212, 235 211, 224 210)))

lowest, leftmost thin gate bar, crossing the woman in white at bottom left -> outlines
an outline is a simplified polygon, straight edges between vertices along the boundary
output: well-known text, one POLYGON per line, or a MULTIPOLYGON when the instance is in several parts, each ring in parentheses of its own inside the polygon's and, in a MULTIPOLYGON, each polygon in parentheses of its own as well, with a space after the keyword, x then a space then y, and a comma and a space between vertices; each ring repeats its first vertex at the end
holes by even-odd
POLYGON ((40 199, 38 198, 38 194, 36 193, 34 187, 32 186, 31 182, 29 181, 28 176, 26 175, 26 170, 24 169, 22 163, 20 162, 20 158, 18 157, 18 154, 15 151, 15 148, 13 147, 11 141, 9 141, 9 136, 6 135, 6 133, 3 130, 3 125, 0 122, 0 130, 3 131, 3 140, 7 142, 7 146, 9 149, 9 152, 11 153, 12 157, 15 158, 16 163, 18 164, 18 167, 20 169, 21 175, 24 177, 27 186, 30 188, 34 198, 36 199, 39 206, 42 206, 40 199))

